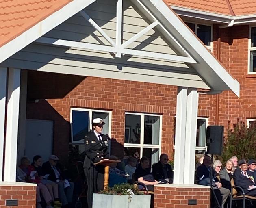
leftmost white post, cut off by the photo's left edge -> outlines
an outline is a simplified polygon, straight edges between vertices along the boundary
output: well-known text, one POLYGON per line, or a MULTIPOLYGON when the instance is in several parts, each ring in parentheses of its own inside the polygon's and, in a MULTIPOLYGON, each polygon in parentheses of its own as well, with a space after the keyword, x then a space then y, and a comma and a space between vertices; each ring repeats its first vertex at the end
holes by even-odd
POLYGON ((4 158, 6 81, 7 81, 7 68, 0 67, 0 181, 2 181, 3 162, 4 162, 3 158, 4 158))

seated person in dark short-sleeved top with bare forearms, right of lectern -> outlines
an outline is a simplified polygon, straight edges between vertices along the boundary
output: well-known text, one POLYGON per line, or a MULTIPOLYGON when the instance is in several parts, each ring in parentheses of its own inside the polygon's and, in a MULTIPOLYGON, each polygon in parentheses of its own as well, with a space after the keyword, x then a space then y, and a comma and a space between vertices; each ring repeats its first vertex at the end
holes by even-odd
POLYGON ((142 157, 139 166, 134 173, 135 180, 145 184, 148 190, 154 191, 154 185, 159 182, 154 180, 154 176, 150 173, 150 163, 147 157, 142 157))

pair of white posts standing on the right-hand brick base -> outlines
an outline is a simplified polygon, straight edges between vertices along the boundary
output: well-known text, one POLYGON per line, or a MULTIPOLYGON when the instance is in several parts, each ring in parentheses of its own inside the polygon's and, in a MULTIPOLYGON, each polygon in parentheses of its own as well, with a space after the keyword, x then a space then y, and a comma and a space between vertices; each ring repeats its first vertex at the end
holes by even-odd
POLYGON ((178 87, 174 184, 194 184, 197 109, 197 90, 187 87, 178 87))

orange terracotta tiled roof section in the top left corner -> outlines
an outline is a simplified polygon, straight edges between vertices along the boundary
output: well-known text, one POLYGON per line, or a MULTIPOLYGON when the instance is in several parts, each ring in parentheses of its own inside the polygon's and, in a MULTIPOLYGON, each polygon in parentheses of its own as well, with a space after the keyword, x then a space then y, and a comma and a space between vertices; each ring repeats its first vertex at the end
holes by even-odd
POLYGON ((0 46, 72 0, 0 0, 0 46))

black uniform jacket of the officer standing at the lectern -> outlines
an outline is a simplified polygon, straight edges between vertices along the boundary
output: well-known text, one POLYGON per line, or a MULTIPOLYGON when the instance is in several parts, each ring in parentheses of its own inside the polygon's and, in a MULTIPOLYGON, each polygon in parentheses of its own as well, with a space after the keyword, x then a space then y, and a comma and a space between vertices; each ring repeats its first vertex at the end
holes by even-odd
POLYGON ((85 136, 85 160, 84 168, 89 168, 104 158, 108 158, 108 135, 100 134, 102 141, 96 137, 94 132, 85 136))

